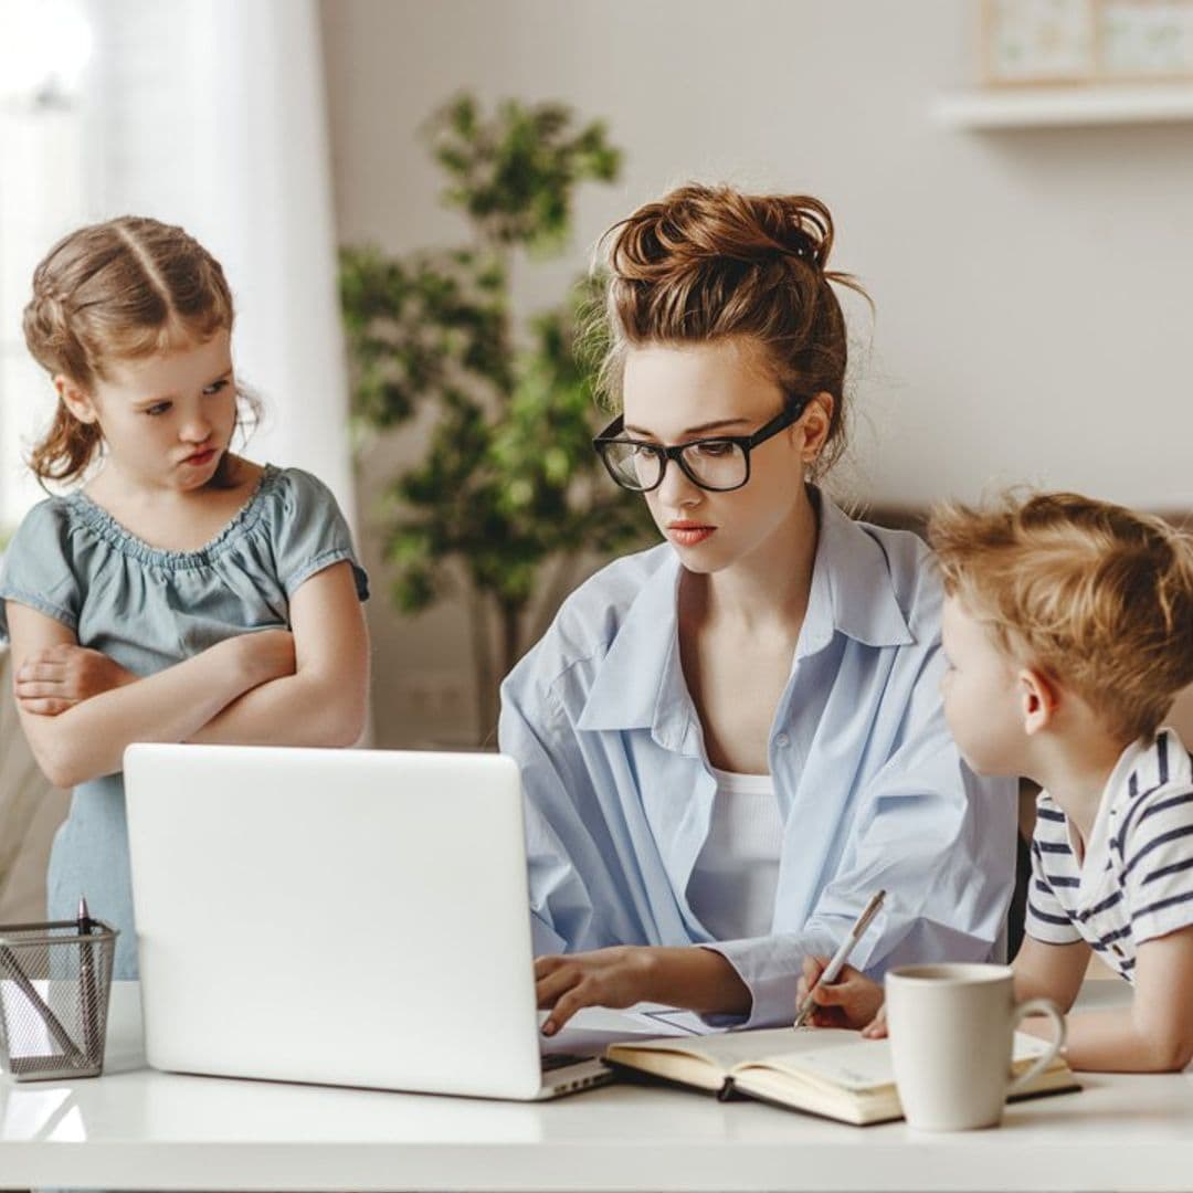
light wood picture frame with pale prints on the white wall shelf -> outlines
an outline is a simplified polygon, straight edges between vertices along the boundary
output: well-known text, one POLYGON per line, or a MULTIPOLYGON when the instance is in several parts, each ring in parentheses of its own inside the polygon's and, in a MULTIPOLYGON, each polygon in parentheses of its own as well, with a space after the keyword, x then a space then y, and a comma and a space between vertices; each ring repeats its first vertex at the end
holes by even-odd
POLYGON ((1193 0, 983 0, 989 86, 1193 80, 1193 0))

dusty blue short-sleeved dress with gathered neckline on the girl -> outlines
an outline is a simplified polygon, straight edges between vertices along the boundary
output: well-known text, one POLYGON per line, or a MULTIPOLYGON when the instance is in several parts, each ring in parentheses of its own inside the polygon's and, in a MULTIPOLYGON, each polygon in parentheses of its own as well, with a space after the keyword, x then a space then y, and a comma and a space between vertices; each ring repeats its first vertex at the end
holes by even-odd
MULTIPOLYGON (((366 600, 369 581, 330 490, 309 472, 266 465, 248 502, 197 551, 149 546, 82 492, 42 501, 5 551, 0 598, 52 617, 74 630, 80 645, 152 675, 224 638, 286 628, 303 581, 344 560, 366 600)), ((0 636, 7 641, 2 605, 0 636)), ((48 889, 51 920, 74 919, 84 894, 94 916, 120 929, 115 976, 135 978, 119 774, 74 789, 54 841, 48 889)))

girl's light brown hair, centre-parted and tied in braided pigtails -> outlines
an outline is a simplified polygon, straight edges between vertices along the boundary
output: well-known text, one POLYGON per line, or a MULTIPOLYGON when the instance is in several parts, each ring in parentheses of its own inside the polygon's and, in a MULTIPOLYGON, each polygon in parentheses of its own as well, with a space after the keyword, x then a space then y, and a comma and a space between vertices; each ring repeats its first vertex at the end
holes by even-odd
MULTIPOLYGON (((223 270, 193 236, 122 216, 73 231, 43 258, 25 307, 25 344, 51 377, 89 389, 113 360, 203 342, 230 332, 234 319, 223 270)), ((240 396, 255 416, 255 398, 240 396)), ((29 465, 43 481, 70 481, 101 443, 100 427, 80 422, 60 401, 29 465)))

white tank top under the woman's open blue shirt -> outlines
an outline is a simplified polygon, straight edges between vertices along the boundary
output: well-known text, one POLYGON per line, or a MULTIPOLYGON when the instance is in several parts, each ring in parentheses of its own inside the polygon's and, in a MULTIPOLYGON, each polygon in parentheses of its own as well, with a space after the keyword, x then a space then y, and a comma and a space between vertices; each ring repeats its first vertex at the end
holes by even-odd
POLYGON ((711 769, 717 793, 709 836, 687 884, 688 907, 716 940, 765 937, 783 847, 774 779, 711 769))

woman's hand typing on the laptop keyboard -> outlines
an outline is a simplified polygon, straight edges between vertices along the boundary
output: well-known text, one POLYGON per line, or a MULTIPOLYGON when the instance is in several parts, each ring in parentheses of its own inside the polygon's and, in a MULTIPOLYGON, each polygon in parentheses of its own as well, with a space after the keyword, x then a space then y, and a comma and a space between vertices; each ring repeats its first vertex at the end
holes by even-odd
POLYGON ((554 1036, 581 1007, 632 1007, 650 999, 657 969, 649 945, 617 945, 589 953, 538 957, 539 1010, 550 1010, 543 1034, 554 1036))

